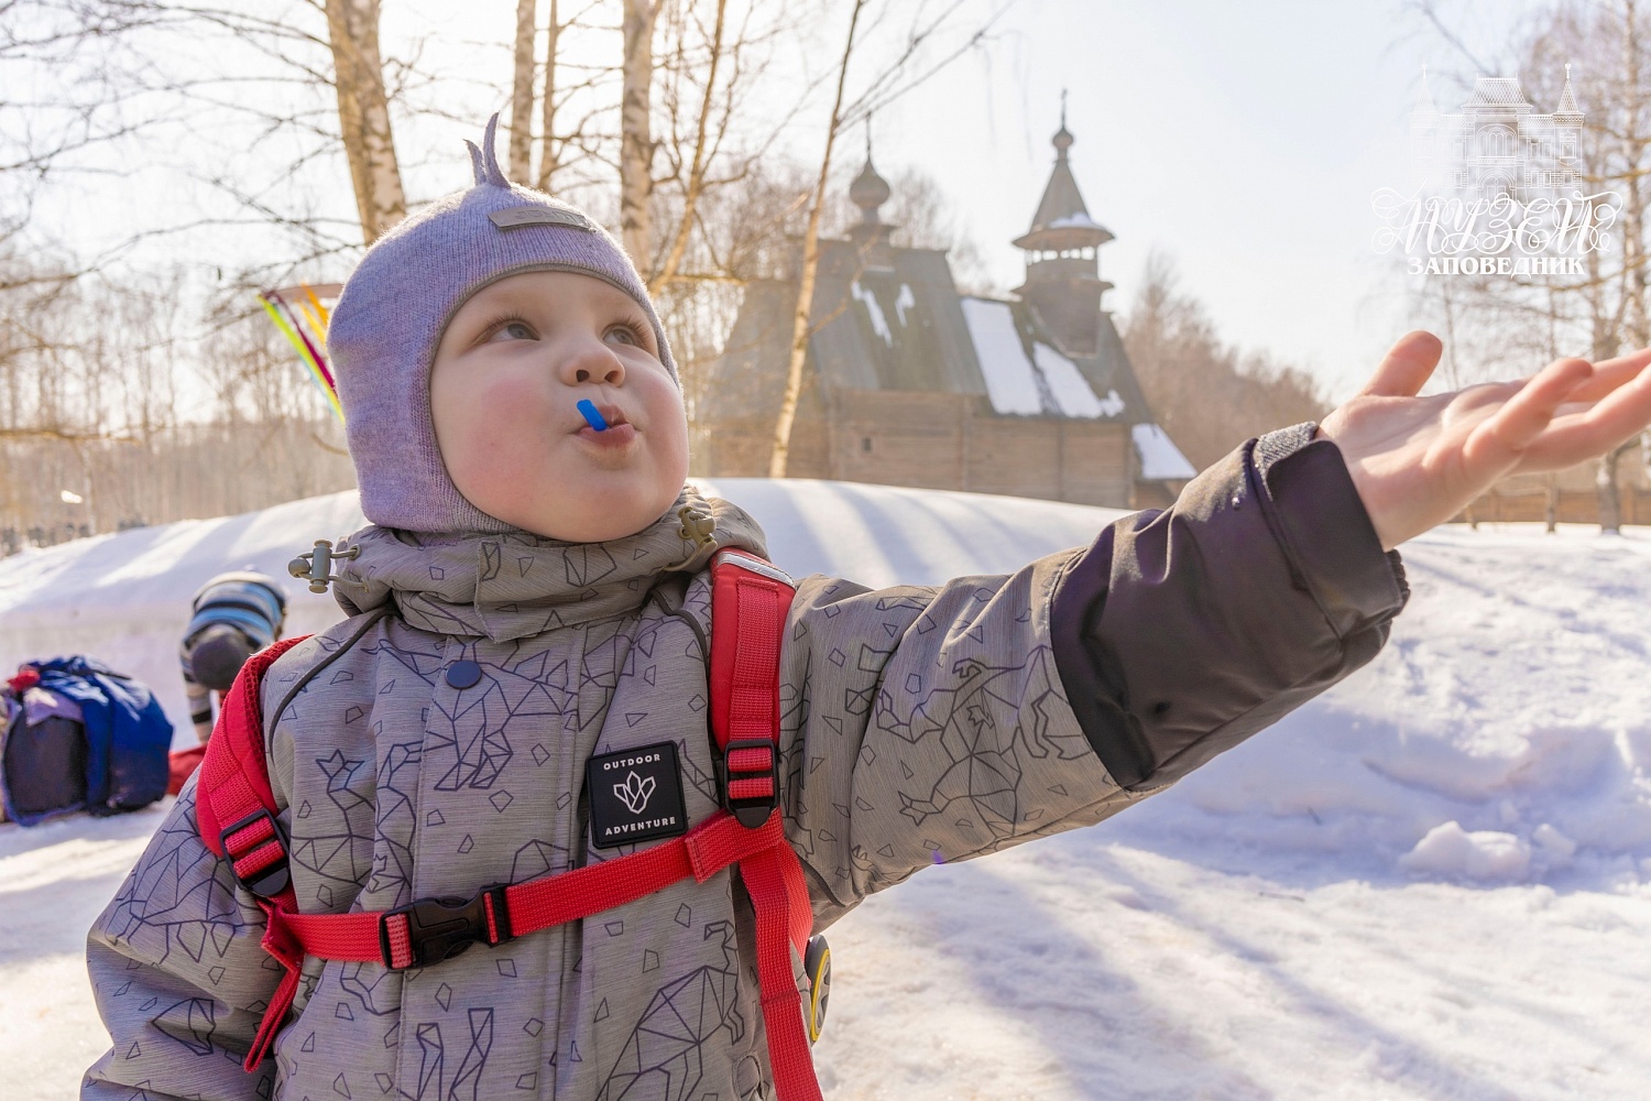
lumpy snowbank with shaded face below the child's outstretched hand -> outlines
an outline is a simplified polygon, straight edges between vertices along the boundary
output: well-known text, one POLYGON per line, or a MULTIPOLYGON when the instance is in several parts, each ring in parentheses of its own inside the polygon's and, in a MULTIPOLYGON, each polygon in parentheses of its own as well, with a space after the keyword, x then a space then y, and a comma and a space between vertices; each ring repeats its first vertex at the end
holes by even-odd
POLYGON ((1118 834, 1319 878, 1651 880, 1651 541, 1506 525, 1403 555, 1369 669, 1118 834))

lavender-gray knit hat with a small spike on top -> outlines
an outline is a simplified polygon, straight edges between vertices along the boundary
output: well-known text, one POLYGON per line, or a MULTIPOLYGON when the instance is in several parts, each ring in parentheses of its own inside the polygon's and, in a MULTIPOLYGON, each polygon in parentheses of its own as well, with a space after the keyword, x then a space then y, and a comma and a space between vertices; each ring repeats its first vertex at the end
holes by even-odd
POLYGON ((343 284, 327 327, 362 512, 408 532, 509 532, 447 477, 429 413, 429 371, 454 312, 490 282, 525 271, 575 271, 609 282, 647 314, 659 358, 677 376, 647 287, 624 249, 568 203, 505 178, 466 142, 475 187, 454 191, 378 238, 343 284))

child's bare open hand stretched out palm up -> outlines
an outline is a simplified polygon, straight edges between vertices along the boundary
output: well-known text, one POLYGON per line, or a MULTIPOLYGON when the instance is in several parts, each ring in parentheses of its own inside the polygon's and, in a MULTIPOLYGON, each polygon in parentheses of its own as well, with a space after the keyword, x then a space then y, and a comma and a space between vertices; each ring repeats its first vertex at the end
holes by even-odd
POLYGON ((1509 474, 1585 462, 1651 423, 1651 348, 1418 398, 1441 350, 1433 333, 1407 333, 1319 426, 1341 447, 1384 550, 1445 523, 1509 474))

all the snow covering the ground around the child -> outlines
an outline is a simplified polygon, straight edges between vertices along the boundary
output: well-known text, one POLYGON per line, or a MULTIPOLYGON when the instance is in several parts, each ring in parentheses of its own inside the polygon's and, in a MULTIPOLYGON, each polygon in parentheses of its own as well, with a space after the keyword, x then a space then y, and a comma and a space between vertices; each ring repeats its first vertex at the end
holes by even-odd
MULTIPOLYGON (((720 480, 792 573, 999 571, 1116 513, 720 480)), ((0 667, 83 649, 162 692, 220 568, 284 563, 348 497, 0 561, 0 667)), ((1651 541, 1441 530, 1377 662, 1095 830, 939 867, 830 934, 827 1096, 1651 1098, 1651 541)), ((334 612, 292 586, 296 629, 334 612)), ((86 926, 162 809, 0 827, 0 1098, 106 1043, 86 926)))

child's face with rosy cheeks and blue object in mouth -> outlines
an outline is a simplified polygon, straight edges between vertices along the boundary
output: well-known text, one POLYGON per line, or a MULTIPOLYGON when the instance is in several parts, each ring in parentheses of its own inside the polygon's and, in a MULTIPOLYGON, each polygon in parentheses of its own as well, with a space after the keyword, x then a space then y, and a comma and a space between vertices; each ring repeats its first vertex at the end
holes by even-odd
POLYGON ((634 535, 688 474, 682 391, 647 315, 589 276, 535 271, 477 291, 441 335, 429 408, 459 492, 535 535, 634 535), (586 424, 583 398, 606 431, 586 424))

